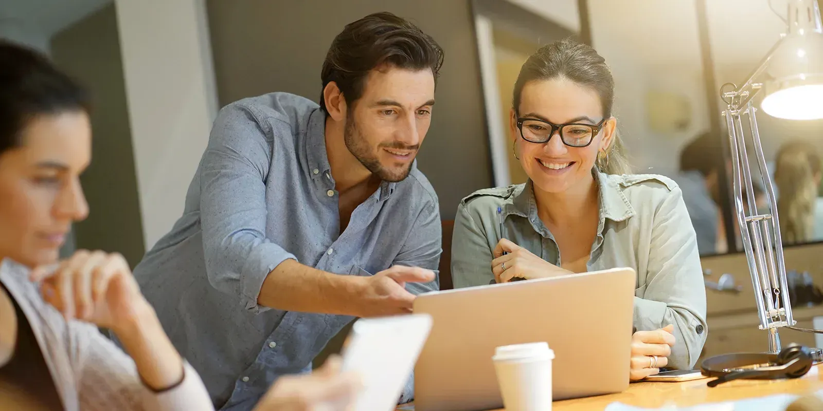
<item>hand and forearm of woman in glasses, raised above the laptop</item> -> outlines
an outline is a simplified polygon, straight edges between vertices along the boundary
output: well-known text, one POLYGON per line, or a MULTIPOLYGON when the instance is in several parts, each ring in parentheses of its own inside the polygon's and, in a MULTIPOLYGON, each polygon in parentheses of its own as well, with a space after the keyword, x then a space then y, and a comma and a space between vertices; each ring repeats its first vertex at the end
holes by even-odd
POLYGON ((495 259, 491 261, 491 272, 495 274, 495 281, 498 283, 509 282, 514 277, 541 279, 572 274, 570 270, 555 266, 505 238, 497 242, 494 255, 495 259), (504 255, 504 253, 507 254, 504 255))

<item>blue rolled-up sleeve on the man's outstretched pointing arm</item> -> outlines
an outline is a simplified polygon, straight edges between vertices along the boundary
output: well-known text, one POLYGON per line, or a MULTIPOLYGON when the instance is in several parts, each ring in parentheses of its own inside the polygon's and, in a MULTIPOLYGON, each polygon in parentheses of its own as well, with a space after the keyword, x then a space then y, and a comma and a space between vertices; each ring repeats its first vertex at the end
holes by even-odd
POLYGON ((297 258, 266 238, 266 180, 272 136, 249 109, 231 104, 218 114, 200 175, 206 272, 213 287, 239 295, 251 312, 263 280, 281 262, 297 258))

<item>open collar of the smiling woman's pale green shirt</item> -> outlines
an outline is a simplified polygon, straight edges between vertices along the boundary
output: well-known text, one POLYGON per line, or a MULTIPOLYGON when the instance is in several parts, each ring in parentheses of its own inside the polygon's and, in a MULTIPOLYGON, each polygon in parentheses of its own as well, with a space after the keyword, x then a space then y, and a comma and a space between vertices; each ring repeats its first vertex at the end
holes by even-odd
MULTIPOLYGON (((614 178, 609 178, 606 173, 597 169, 592 171, 594 181, 597 182, 598 195, 600 197, 600 224, 597 231, 602 233, 606 219, 611 221, 623 221, 635 215, 635 209, 631 206, 629 199, 623 193, 618 182, 614 178)), ((527 218, 535 224, 537 216, 537 201, 534 198, 533 182, 528 180, 522 186, 513 188, 511 196, 504 201, 503 217, 507 215, 519 215, 527 218)))

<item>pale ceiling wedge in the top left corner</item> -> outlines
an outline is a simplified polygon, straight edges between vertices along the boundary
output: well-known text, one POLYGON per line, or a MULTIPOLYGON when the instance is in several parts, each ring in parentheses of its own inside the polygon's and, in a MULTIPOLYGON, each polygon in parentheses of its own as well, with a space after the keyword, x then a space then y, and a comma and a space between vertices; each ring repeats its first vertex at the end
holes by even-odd
POLYGON ((0 0, 0 25, 25 25, 50 37, 112 0, 0 0))

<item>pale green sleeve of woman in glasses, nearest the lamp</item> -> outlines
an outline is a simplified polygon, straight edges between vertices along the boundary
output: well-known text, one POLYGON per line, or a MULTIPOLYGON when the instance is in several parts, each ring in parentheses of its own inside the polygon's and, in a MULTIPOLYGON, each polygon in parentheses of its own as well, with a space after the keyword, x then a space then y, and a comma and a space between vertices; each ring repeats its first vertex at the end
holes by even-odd
POLYGON ((639 330, 674 326, 677 342, 669 367, 694 367, 705 343, 706 291, 695 229, 679 187, 674 187, 654 215, 649 266, 643 298, 635 297, 639 330))

